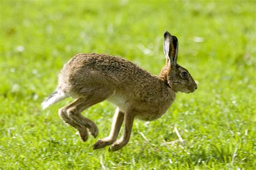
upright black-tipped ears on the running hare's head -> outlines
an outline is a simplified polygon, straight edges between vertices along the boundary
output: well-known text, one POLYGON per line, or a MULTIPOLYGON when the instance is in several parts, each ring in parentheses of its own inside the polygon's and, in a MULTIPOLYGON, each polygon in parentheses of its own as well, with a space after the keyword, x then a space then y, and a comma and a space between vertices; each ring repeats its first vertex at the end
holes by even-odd
POLYGON ((178 39, 172 36, 168 31, 164 33, 164 54, 171 63, 177 63, 178 39))

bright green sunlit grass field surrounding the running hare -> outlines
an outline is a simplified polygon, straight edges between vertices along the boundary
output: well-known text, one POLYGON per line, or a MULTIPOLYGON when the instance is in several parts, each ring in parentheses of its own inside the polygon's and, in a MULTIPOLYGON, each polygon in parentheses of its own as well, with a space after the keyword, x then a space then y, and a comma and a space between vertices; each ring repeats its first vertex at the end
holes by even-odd
POLYGON ((0 169, 255 168, 255 6, 228 0, 0 1, 0 169), (110 103, 84 111, 99 128, 97 139, 86 143, 58 117, 71 98, 42 111, 57 74, 76 53, 122 56, 159 74, 166 30, 178 37, 178 63, 198 89, 179 93, 157 121, 136 120, 122 150, 92 150, 109 134, 110 103))

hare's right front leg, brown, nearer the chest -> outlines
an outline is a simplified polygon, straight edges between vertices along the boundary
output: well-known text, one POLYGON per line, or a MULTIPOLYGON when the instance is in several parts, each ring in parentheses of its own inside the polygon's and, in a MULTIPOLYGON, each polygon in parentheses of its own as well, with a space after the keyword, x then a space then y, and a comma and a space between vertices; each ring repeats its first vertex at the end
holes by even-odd
POLYGON ((124 114, 124 134, 121 139, 117 140, 109 147, 109 151, 117 151, 120 148, 124 147, 130 140, 132 132, 132 124, 134 121, 135 115, 132 112, 125 112, 124 114))

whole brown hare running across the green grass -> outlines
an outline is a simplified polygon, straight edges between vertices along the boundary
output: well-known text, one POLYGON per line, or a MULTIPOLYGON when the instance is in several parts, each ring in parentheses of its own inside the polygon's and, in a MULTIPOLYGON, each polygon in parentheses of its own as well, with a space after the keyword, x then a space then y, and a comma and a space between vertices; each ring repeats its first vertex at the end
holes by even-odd
POLYGON ((64 122, 76 128, 80 138, 86 141, 89 134, 97 137, 98 128, 81 113, 102 101, 117 106, 108 137, 98 140, 93 149, 107 145, 109 151, 117 151, 130 140, 134 118, 153 121, 161 117, 176 98, 178 91, 192 93, 197 84, 188 71, 177 63, 178 39, 164 33, 166 65, 160 75, 152 75, 131 61, 107 54, 77 54, 63 67, 58 86, 42 103, 43 109, 66 97, 75 101, 59 109, 64 122), (117 140, 124 122, 124 133, 117 140))

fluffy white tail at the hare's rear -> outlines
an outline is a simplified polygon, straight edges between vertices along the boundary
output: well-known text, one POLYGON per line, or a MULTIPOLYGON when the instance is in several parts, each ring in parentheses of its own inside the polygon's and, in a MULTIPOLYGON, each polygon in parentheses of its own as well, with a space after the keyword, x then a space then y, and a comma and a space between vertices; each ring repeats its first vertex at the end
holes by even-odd
POLYGON ((55 104, 64 98, 69 97, 65 91, 57 88, 49 97, 45 98, 45 101, 41 104, 43 110, 48 108, 50 105, 55 104))

